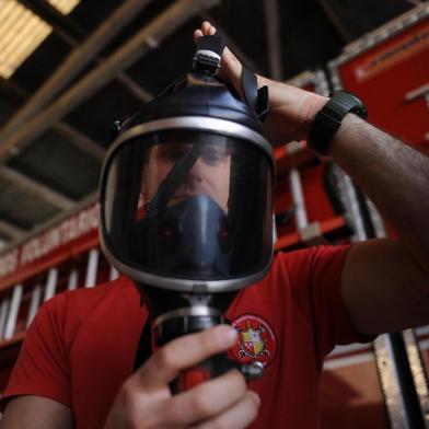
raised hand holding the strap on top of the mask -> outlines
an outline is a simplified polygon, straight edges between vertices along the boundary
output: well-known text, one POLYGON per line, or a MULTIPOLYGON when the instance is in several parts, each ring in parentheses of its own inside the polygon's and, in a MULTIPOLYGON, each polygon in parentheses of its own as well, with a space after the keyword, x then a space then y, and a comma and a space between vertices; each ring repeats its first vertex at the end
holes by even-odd
MULTIPOLYGON (((206 21, 199 30, 194 32, 194 39, 215 33, 216 28, 206 21)), ((219 77, 232 84, 235 91, 243 96, 241 72, 241 62, 225 47, 219 77)), ((257 76, 257 80, 259 88, 268 86, 269 113, 265 127, 270 142, 282 144, 293 140, 306 139, 316 113, 326 104, 328 98, 260 76, 257 76)))

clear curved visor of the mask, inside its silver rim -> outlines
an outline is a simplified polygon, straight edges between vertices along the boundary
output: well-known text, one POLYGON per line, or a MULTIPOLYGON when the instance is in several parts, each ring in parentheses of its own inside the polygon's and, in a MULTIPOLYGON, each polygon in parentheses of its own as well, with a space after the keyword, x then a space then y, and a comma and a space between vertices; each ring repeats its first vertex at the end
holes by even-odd
POLYGON ((271 257, 271 181, 269 155, 239 138, 164 130, 125 141, 103 171, 104 245, 139 281, 252 276, 271 257))

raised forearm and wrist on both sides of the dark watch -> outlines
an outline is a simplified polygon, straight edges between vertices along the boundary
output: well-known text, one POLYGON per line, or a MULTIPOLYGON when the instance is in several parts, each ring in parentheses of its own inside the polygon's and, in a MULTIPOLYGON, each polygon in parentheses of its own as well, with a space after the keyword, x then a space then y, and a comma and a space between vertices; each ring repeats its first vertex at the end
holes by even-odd
MULTIPOLYGON (((260 77, 258 84, 268 85, 270 141, 306 138, 328 98, 260 77)), ((429 158, 353 114, 345 116, 328 154, 369 195, 429 277, 429 158)))

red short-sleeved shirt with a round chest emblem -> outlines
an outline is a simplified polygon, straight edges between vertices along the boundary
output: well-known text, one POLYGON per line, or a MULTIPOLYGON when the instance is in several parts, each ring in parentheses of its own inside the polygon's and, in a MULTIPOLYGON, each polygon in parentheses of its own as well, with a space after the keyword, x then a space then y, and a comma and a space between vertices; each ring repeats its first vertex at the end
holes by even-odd
MULTIPOLYGON (((265 364, 250 383, 262 405, 254 428, 316 428, 324 357, 351 333, 339 285, 347 246, 278 254, 266 278, 242 290, 227 316, 240 332, 231 355, 265 364)), ((76 427, 102 428, 131 374, 148 313, 125 277, 45 303, 27 331, 3 399, 39 395, 73 411, 76 427)))

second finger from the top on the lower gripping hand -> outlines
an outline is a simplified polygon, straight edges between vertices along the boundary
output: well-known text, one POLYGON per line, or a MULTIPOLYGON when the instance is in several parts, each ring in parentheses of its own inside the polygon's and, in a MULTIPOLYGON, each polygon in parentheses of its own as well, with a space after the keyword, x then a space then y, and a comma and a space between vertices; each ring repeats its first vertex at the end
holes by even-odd
POLYGON ((239 403, 246 394, 244 376, 236 370, 174 396, 169 418, 177 426, 209 420, 239 403), (216 399, 215 399, 216 398, 216 399))

